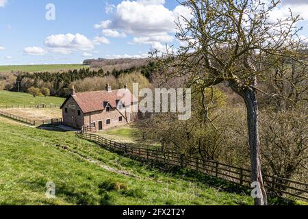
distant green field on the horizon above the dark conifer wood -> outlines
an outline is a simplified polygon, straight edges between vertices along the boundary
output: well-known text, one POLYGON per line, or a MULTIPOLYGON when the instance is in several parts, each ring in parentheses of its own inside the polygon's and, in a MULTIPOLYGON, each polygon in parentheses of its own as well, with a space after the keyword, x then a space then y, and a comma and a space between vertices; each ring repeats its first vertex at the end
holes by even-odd
POLYGON ((41 64, 41 65, 28 65, 28 66, 0 66, 1 72, 11 71, 27 71, 27 72, 41 72, 41 71, 54 71, 54 70, 73 70, 80 68, 87 68, 81 64, 41 64))

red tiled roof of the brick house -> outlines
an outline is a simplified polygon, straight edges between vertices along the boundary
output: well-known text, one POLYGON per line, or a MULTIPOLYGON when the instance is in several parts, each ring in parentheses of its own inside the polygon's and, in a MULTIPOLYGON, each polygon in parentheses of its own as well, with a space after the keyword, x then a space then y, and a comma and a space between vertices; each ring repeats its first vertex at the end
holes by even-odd
MULTIPOLYGON (((118 91, 119 90, 112 90, 112 92, 107 92, 106 90, 101 90, 93 92, 82 92, 82 93, 76 93, 75 95, 71 96, 79 105, 82 112, 89 113, 89 112, 105 110, 104 103, 106 102, 109 103, 111 107, 116 108, 116 101, 119 101, 120 99, 125 99, 124 96, 119 95, 118 91)), ((127 92, 126 95, 131 95, 131 103, 138 102, 136 96, 133 96, 133 94, 131 94, 131 92, 128 89, 126 90, 126 92, 127 92)), ((62 105, 62 107, 64 106, 64 104, 62 105)))

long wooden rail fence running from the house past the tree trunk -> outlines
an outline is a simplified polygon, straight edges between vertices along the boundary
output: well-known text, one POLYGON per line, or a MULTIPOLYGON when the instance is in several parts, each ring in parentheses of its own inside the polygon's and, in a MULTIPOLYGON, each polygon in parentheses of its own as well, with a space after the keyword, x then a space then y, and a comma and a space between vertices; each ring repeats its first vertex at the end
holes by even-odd
MULTIPOLYGON (((76 136, 77 138, 95 142, 108 150, 125 152, 127 155, 133 155, 162 164, 190 168, 206 175, 251 188, 251 170, 245 168, 212 162, 197 157, 179 155, 175 151, 145 149, 128 144, 120 144, 92 133, 80 131, 76 133, 76 136)), ((268 192, 274 196, 294 196, 308 201, 308 183, 301 183, 270 175, 264 175, 264 183, 268 192)))

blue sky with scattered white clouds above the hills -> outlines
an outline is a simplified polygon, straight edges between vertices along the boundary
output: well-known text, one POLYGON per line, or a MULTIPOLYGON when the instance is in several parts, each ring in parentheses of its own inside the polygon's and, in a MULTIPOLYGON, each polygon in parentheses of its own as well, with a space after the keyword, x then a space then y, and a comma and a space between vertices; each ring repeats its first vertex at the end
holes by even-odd
MULTIPOLYGON (((268 1, 268 0, 264 0, 268 1)), ((308 0, 282 0, 308 36, 308 0)), ((89 58, 147 57, 177 45, 175 19, 190 11, 175 0, 0 0, 0 65, 80 64, 89 58)))

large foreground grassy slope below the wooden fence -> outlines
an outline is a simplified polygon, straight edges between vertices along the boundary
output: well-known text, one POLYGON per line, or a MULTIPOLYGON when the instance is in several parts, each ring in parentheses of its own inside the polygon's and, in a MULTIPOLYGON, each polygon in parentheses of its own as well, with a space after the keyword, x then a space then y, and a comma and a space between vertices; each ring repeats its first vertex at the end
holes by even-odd
POLYGON ((43 131, 0 121, 0 205, 237 205, 252 198, 209 188, 160 172, 79 140, 73 133, 43 131), (66 146, 62 149, 60 146, 66 146), (82 159, 90 157, 110 172, 82 159), (56 199, 44 196, 55 182, 56 199), (116 185, 121 185, 117 190, 116 185))

